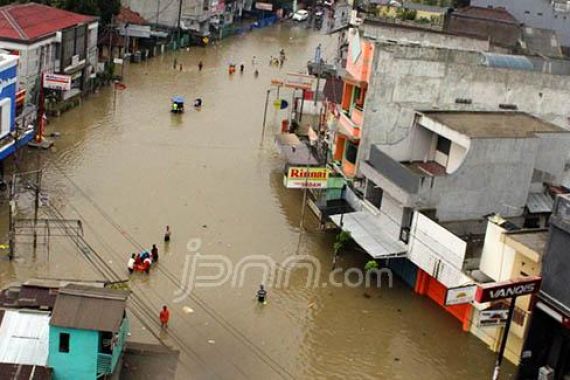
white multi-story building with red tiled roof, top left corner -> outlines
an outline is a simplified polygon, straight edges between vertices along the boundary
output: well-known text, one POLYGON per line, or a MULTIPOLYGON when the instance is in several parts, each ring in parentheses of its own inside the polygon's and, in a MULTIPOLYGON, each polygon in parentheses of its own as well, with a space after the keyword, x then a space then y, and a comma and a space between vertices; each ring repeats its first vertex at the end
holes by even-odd
POLYGON ((95 17, 46 5, 27 3, 0 8, 0 48, 20 56, 19 87, 37 103, 41 76, 62 74, 63 90, 55 100, 68 100, 90 89, 97 68, 95 17))

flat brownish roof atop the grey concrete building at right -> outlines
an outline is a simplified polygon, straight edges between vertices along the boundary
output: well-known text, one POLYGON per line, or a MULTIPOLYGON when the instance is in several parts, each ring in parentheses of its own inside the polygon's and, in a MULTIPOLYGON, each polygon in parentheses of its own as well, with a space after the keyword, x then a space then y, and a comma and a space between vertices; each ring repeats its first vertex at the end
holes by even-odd
POLYGON ((420 111, 470 138, 526 138, 536 133, 568 133, 557 125, 525 112, 420 111))

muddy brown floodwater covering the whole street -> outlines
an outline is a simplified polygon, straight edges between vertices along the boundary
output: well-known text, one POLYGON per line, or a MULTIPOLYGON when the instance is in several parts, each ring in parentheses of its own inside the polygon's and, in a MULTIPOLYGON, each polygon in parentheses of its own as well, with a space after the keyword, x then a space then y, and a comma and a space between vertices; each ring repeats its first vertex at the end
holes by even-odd
MULTIPOLYGON (((138 299, 131 338, 158 337, 180 350, 178 379, 490 378, 495 355, 451 315, 397 278, 392 288, 383 282, 367 296, 362 286, 350 286, 355 273, 349 272, 349 284, 333 286, 348 268, 362 268, 366 255, 345 252, 337 263, 343 271, 329 280, 334 233, 319 231, 310 212, 301 233, 302 193, 283 188, 283 161, 272 143, 286 114, 270 107, 263 146, 261 124, 270 80, 303 70, 318 43, 330 59, 335 36, 283 24, 130 64, 125 90, 101 90, 51 121, 49 131, 61 136, 42 153, 50 207, 60 217, 81 219, 85 239, 122 278, 131 252, 158 244, 158 266, 148 276, 131 276, 138 299), (269 57, 280 48, 287 52, 285 67, 270 68, 269 57), (173 69, 175 57, 182 71, 173 69), (245 72, 229 77, 230 61, 243 61, 245 72), (188 105, 202 97, 204 105, 172 115, 172 95, 185 96, 188 105), (173 232, 169 246, 162 242, 166 225, 173 232), (288 283, 262 280, 263 263, 282 270, 288 258, 305 256, 318 265, 299 267, 288 283), (252 265, 244 269, 244 263, 252 265), (189 282, 185 273, 220 284, 178 297, 177 288, 189 282), (317 286, 307 286, 315 278, 317 286), (274 286, 260 306, 254 296, 262 281, 274 286), (163 304, 171 309, 168 331, 157 324, 163 304)), ((25 159, 22 165, 33 168, 33 155, 25 159)), ((30 200, 20 197, 21 214, 29 216, 30 200)), ((46 208, 42 216, 54 217, 46 208)), ((68 239, 50 241, 49 259, 45 245, 33 255, 22 243, 16 260, 1 263, 2 283, 31 276, 101 279, 68 239)), ((513 372, 504 364, 503 378, 513 372)))

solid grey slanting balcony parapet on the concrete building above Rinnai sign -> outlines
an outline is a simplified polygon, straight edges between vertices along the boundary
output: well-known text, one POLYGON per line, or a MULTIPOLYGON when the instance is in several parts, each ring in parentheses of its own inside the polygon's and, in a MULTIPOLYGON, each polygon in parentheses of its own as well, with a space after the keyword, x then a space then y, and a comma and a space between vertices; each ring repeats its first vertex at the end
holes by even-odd
POLYGON ((388 181, 408 194, 417 194, 419 192, 423 176, 414 173, 405 165, 394 160, 382 152, 376 145, 372 145, 370 149, 368 164, 388 181))

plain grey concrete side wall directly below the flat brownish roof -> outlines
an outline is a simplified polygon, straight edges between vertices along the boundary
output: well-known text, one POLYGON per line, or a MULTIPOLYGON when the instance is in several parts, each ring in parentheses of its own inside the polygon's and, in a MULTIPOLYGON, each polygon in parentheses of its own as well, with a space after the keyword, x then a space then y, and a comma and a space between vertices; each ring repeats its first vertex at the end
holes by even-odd
POLYGON ((453 173, 428 177, 418 203, 437 209, 442 221, 469 220, 499 212, 522 213, 528 198, 538 138, 474 139, 453 173))

